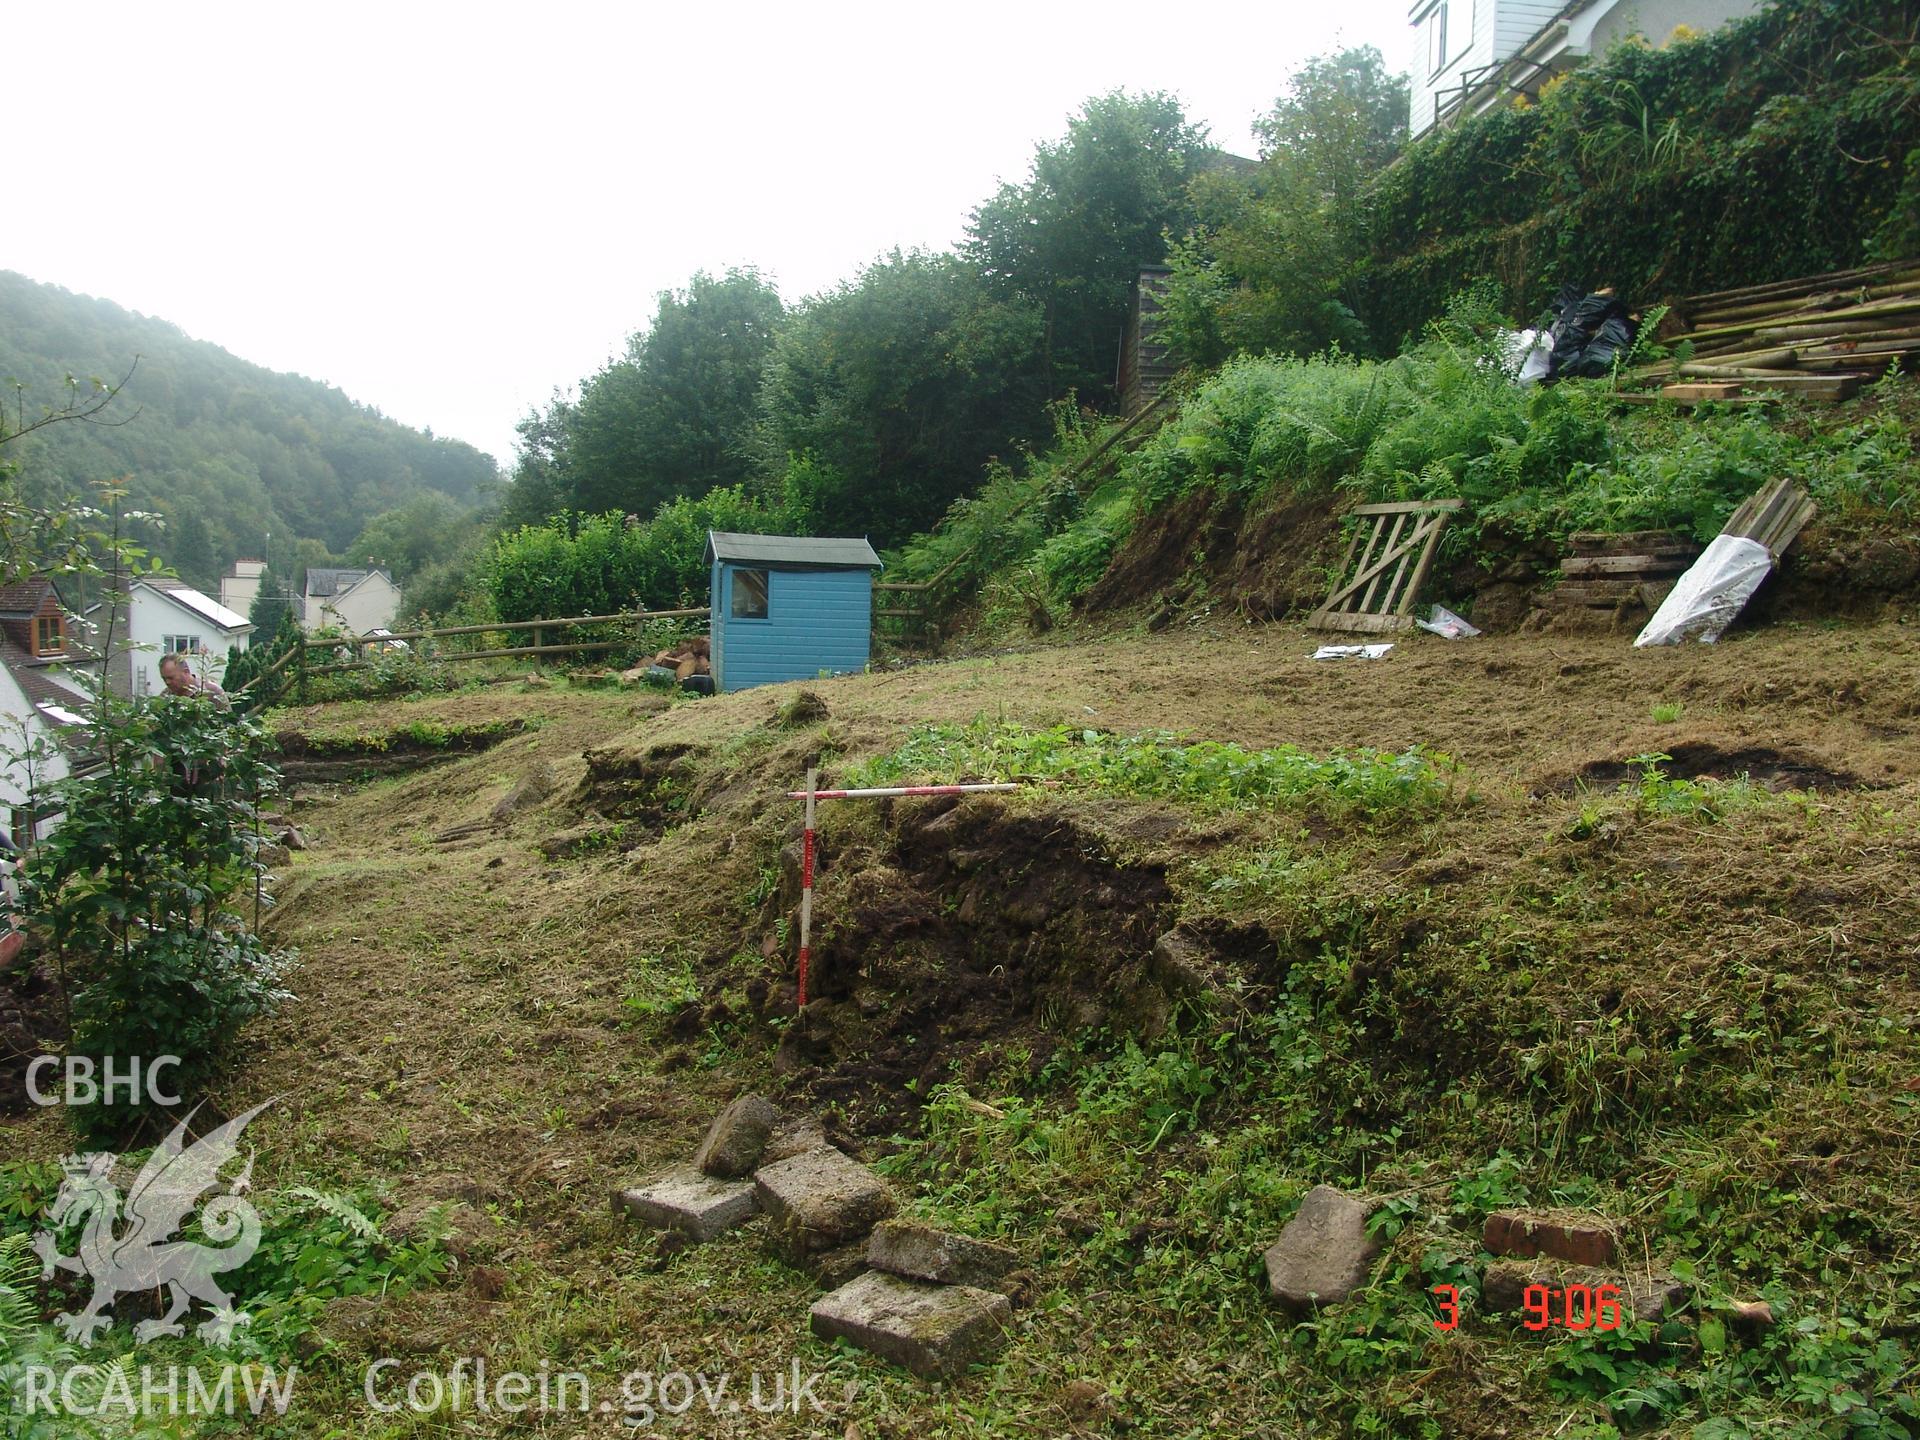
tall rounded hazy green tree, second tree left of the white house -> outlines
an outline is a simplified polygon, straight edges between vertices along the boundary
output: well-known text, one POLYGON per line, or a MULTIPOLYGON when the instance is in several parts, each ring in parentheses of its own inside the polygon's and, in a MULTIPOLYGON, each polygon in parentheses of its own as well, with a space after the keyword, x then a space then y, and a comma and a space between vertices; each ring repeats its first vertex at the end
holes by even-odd
POLYGON ((1035 405, 1106 394, 1133 280, 1187 228, 1187 184, 1215 156, 1175 96, 1114 90, 973 211, 964 255, 1043 317, 1035 405))

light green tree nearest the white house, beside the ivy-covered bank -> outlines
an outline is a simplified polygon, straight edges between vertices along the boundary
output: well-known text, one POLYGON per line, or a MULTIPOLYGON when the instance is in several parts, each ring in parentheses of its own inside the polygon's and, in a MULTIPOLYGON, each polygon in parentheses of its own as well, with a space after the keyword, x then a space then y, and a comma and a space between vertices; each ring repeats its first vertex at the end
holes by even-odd
POLYGON ((1405 142, 1407 84, 1363 46, 1308 61, 1260 123, 1254 175, 1192 186, 1198 225, 1173 246, 1164 332, 1188 357, 1367 351, 1354 311, 1367 182, 1405 142))

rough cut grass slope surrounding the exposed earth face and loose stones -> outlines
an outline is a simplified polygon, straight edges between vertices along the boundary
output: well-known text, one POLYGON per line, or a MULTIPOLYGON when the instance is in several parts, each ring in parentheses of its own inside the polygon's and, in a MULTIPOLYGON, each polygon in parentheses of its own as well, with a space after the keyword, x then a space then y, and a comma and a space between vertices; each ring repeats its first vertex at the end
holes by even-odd
MULTIPOLYGON (((620 691, 499 687, 303 718, 543 724, 296 808, 315 847, 271 924, 303 952, 300 998, 217 1100, 290 1096, 250 1131, 267 1192, 445 1202, 459 1263, 323 1300, 296 1411, 255 1432, 484 1428, 369 1413, 363 1367, 390 1354, 407 1371, 549 1359, 605 1394, 630 1371, 799 1361, 826 1377, 814 1428, 864 1436, 1916 1432, 1920 747, 1899 707, 1920 641, 1415 639, 1365 674, 1309 649, 1221 624, 808 682, 829 716, 791 732, 780 689, 641 714, 620 691), (1836 707, 1849 685, 1859 703, 1836 707), (1686 712, 1659 722, 1655 703, 1686 712), (1651 758, 1757 737, 1889 789, 1728 803, 1651 758), (670 745, 693 747, 674 829, 543 860, 543 835, 582 824, 584 751, 670 745), (664 1254, 607 1206, 684 1164, 745 1089, 829 1110, 820 1079, 864 1083, 776 1071, 780 1016, 745 998, 791 979, 778 856, 799 816, 780 795, 816 751, 829 783, 1050 768, 1064 783, 1008 814, 1114 835, 1127 874, 1167 876, 1156 929, 1215 947, 1210 989, 1165 1027, 1027 1025, 981 1068, 929 1075, 899 1135, 864 1137, 910 1210, 1014 1244, 1033 1277, 1006 1357, 948 1386, 814 1338, 818 1292, 756 1233, 664 1254), (1651 774, 1622 789, 1567 783, 1632 756, 1651 774), (555 793, 507 833, 420 843, 538 762, 555 793), (1354 1302, 1294 1323, 1260 1254, 1315 1183, 1380 1202, 1382 1252, 1354 1302), (1619 1215, 1634 1256, 1692 1267, 1697 1304, 1674 1332, 1619 1340, 1482 1313, 1476 1221, 1513 1202, 1619 1215), (1432 1325, 1436 1283, 1461 1286, 1455 1332, 1432 1325), (1780 1323, 1745 1332, 1726 1306, 1761 1296, 1780 1323)), ((899 948, 950 924, 887 908, 912 814, 826 812, 845 899, 822 922, 897 925, 899 948)), ((1025 954, 979 956, 981 973, 1025 954)), ((1085 964, 1117 977, 1139 958, 1085 964)), ((918 996, 862 998, 885 1025, 918 996)), ((54 1116, 4 1125, 10 1156, 69 1148, 54 1116)), ((0 1185, 0 1212, 35 1185, 44 1171, 0 1185)))

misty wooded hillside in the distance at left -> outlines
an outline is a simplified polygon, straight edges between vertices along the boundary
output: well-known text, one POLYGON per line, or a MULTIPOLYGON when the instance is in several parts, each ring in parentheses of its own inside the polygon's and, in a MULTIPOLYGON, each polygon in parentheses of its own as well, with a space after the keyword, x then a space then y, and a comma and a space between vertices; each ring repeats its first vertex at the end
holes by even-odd
POLYGON ((238 555, 321 563, 361 526, 422 492, 461 507, 497 482, 490 455, 386 419, 340 390, 250 365, 167 321, 0 271, 0 380, 12 417, 63 401, 63 376, 132 378, 119 426, 56 424, 8 445, 36 497, 131 476, 131 505, 167 516, 144 538, 182 576, 211 584, 238 555))

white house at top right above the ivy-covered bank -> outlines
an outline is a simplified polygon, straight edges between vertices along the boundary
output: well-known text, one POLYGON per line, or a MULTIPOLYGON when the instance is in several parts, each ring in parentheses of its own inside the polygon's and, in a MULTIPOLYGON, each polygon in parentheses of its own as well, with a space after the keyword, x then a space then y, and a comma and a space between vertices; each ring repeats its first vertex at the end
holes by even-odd
POLYGON ((1766 0, 1415 0, 1407 129, 1425 134, 1540 94, 1555 75, 1630 36, 1667 44, 1711 31, 1766 0))

